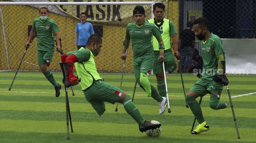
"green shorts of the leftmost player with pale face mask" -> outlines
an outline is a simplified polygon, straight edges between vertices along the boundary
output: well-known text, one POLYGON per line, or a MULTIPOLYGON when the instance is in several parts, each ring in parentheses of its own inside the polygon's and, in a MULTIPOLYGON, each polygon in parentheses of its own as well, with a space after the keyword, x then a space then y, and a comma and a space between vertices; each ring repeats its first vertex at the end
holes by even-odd
POLYGON ((37 51, 37 60, 38 60, 38 66, 41 66, 43 64, 47 64, 47 66, 50 65, 50 63, 53 60, 54 51, 37 51))

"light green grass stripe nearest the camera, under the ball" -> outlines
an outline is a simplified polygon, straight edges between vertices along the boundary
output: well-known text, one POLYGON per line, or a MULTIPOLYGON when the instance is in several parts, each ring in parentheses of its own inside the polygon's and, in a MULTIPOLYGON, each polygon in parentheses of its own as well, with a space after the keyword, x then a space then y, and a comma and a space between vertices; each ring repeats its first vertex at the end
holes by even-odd
MULTIPOLYGON (((1 131, 16 131, 19 132, 40 132, 40 133, 61 133, 64 134, 66 132, 65 122, 60 121, 34 121, 34 120, 0 120, 3 124, 1 131), (15 128, 14 128, 15 127, 15 128)), ((99 136, 133 136, 133 137, 144 137, 145 133, 140 133, 138 131, 137 124, 116 124, 116 123, 93 123, 93 122, 73 122, 73 127, 75 128, 75 134, 85 134, 87 136, 93 135, 97 133, 99 136), (111 127, 111 129, 109 129, 111 127), (88 131, 89 130, 89 131, 88 131), (122 134, 117 134, 117 131, 122 134)), ((164 129, 168 129, 165 132, 162 132, 163 137, 165 138, 179 138, 179 139, 187 139, 188 136, 190 139, 203 139, 205 140, 205 136, 207 139, 222 141, 221 137, 228 136, 226 140, 229 141, 237 141, 236 130, 234 128, 212 128, 208 132, 204 132, 201 136, 194 136, 190 134, 191 126, 177 126, 177 125, 165 125, 164 129), (176 129, 180 129, 177 132, 176 129), (223 132, 224 134, 219 134, 216 136, 216 132, 223 132)), ((242 141, 254 141, 251 138, 251 133, 256 132, 256 129, 246 129, 240 128, 241 136, 243 136, 242 141)), ((160 137, 161 138, 161 137, 160 137)))

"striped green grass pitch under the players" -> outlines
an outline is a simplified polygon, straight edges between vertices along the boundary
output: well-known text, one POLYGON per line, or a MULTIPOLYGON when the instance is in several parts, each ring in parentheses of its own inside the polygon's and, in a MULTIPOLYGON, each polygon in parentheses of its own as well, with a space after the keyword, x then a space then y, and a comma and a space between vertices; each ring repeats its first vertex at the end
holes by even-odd
MULTIPOLYGON (((53 72, 58 83, 62 73, 53 72)), ((229 88, 241 139, 237 138, 226 87, 221 101, 227 109, 212 110, 209 95, 203 97, 202 111, 211 129, 199 135, 190 133, 194 116, 185 107, 180 74, 167 74, 171 113, 159 115, 158 103, 148 98, 137 85, 134 104, 146 120, 162 123, 160 137, 148 137, 138 130, 138 124, 127 114, 122 104, 106 103, 102 117, 85 100, 80 85, 74 86, 75 96, 69 88, 69 105, 74 133, 67 140, 65 119, 65 90, 62 84, 60 97, 55 97, 53 86, 40 72, 19 71, 11 91, 8 91, 15 71, 0 72, 0 142, 1 143, 252 143, 256 142, 256 75, 229 75, 229 88)), ((100 73, 105 82, 120 86, 121 74, 100 73)), ((186 93, 198 80, 195 75, 183 74, 186 93)), ((150 76, 156 87, 156 78, 150 76)), ((125 74, 122 90, 131 95, 134 75, 125 74)), ((199 98, 197 99, 199 100, 199 98)), ((198 125, 198 122, 196 122, 198 125)), ((195 126, 196 126, 195 125, 195 126)))

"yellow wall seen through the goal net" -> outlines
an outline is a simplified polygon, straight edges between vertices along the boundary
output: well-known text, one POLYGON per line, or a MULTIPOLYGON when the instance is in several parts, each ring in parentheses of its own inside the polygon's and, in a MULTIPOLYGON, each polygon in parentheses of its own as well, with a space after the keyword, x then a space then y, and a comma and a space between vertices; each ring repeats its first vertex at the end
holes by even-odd
MULTIPOLYGON (((4 5, 2 6, 5 32, 7 34, 7 48, 9 52, 10 67, 16 70, 20 63, 24 50, 25 42, 27 41, 27 27, 32 25, 34 18, 38 17, 38 9, 26 5, 4 5), (15 52, 16 51, 16 52, 15 52), (18 54, 18 56, 17 56, 18 54)), ((178 1, 168 1, 167 9, 168 19, 173 20, 178 30, 178 1)), ((74 30, 76 23, 80 22, 73 17, 61 16, 50 13, 49 18, 56 21, 60 29, 60 37, 62 38, 62 48, 65 52, 76 50, 74 43, 74 30)), ((93 25, 102 25, 101 23, 93 22, 93 25)), ((123 50, 123 39, 125 38, 125 29, 123 26, 102 25, 103 26, 103 46, 100 55, 95 57, 96 66, 99 71, 122 71, 123 60, 120 55, 123 50)), ((2 28, 2 27, 1 27, 2 28)), ((4 40, 2 30, 0 32, 0 70, 7 70, 7 62, 5 58, 4 40)), ((24 61, 32 64, 37 62, 37 38, 31 43, 31 47, 27 50, 24 61)), ((131 44, 127 60, 125 63, 125 71, 132 72, 132 48, 131 44)), ((60 54, 55 52, 53 62, 50 69, 60 70, 59 62, 61 61, 60 54)), ((38 66, 22 63, 21 70, 39 70, 38 66)))

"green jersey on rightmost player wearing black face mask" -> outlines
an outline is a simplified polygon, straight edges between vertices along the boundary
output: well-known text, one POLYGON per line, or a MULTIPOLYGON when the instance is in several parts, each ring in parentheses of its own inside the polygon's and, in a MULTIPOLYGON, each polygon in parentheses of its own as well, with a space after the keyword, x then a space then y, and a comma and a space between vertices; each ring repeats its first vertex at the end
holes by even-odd
POLYGON ((208 80, 212 80, 212 77, 216 75, 218 69, 217 55, 220 54, 225 54, 225 51, 219 36, 211 33, 207 41, 201 41, 201 55, 203 58, 203 72, 201 79, 209 78, 208 80))

